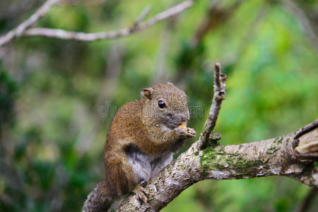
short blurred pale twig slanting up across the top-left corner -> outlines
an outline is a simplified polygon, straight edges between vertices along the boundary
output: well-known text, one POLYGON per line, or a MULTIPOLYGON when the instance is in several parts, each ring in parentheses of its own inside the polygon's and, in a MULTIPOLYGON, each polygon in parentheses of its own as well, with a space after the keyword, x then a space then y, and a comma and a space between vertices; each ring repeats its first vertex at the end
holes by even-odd
POLYGON ((58 2, 59 0, 45 1, 45 4, 42 4, 42 6, 40 6, 40 8, 38 8, 37 11, 35 11, 35 13, 33 13, 33 15, 30 16, 30 18, 25 20, 23 23, 20 23, 18 27, 9 31, 8 33, 6 33, 6 35, 3 35, 0 37, 0 47, 6 44, 7 42, 13 40, 13 38, 22 36, 25 30, 28 30, 28 28, 35 25, 35 23, 37 23, 37 21, 42 16, 44 16, 47 13, 47 11, 49 11, 49 8, 51 8, 51 6, 53 6, 54 4, 57 4, 58 2))

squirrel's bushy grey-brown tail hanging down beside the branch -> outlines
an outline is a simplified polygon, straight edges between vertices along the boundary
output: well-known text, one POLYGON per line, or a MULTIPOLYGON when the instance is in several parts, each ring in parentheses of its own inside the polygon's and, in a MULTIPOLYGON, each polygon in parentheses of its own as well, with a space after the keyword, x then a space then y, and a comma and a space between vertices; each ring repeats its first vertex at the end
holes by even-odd
POLYGON ((107 211, 114 199, 112 198, 110 187, 106 181, 100 182, 93 192, 88 194, 84 203, 83 212, 107 211))

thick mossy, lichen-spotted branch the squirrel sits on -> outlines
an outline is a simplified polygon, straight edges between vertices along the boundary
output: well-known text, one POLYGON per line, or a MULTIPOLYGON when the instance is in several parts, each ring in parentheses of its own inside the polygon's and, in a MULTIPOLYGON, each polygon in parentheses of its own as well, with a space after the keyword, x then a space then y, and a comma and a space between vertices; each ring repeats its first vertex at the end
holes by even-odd
MULTIPOLYGON (((315 129, 318 119, 313 122, 315 129)), ((293 141, 299 131, 285 136, 239 145, 199 150, 194 143, 187 152, 148 182, 148 202, 140 204, 131 195, 118 211, 159 211, 184 189, 204 179, 246 179, 281 175, 318 187, 318 167, 314 160, 302 160, 293 141)))

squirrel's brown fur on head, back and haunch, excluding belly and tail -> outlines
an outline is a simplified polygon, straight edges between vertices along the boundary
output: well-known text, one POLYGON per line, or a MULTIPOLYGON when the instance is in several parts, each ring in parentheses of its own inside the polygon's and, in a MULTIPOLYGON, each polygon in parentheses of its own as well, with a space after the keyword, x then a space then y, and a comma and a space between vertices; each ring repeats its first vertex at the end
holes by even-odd
POLYGON ((123 105, 107 134, 104 184, 109 188, 105 195, 118 199, 141 181, 131 166, 131 150, 136 155, 154 158, 153 163, 161 163, 162 155, 179 151, 184 139, 195 135, 193 129, 177 128, 188 119, 187 95, 172 83, 145 88, 140 100, 123 105), (165 102, 164 109, 158 107, 158 100, 165 102))

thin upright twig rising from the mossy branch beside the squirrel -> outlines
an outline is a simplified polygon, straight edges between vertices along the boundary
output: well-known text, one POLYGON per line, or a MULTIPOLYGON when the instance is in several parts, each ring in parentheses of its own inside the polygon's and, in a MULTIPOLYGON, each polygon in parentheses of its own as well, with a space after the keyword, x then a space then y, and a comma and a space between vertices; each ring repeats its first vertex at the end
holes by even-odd
POLYGON ((213 100, 208 118, 204 124, 204 129, 199 138, 199 148, 206 148, 211 131, 213 131, 214 126, 216 126, 216 120, 218 119, 222 101, 225 99, 226 75, 224 73, 220 73, 220 69, 220 63, 216 62, 216 64, 214 64, 213 100))

